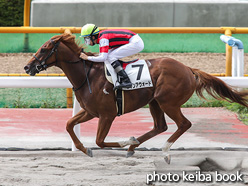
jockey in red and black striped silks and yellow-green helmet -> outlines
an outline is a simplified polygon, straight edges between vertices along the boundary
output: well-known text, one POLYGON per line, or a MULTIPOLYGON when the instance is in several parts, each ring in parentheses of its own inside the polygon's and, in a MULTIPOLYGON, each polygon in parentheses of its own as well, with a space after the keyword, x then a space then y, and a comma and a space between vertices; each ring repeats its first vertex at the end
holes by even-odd
POLYGON ((144 43, 138 34, 124 29, 100 31, 96 25, 86 24, 81 29, 80 37, 84 37, 86 45, 99 44, 100 50, 98 56, 87 56, 81 53, 80 57, 93 62, 104 62, 107 68, 111 65, 114 72, 122 79, 122 83, 115 86, 114 90, 132 87, 132 83, 122 68, 119 59, 131 56, 144 49, 144 43))

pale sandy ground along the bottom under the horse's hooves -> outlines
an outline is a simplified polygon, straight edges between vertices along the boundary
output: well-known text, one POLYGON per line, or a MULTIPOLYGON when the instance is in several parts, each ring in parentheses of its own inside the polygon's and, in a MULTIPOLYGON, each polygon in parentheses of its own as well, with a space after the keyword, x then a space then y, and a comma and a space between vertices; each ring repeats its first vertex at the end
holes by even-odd
POLYGON ((248 181, 248 152, 172 151, 170 165, 161 151, 137 151, 131 158, 117 150, 94 154, 90 158, 69 151, 1 152, 0 185, 239 186, 248 181))

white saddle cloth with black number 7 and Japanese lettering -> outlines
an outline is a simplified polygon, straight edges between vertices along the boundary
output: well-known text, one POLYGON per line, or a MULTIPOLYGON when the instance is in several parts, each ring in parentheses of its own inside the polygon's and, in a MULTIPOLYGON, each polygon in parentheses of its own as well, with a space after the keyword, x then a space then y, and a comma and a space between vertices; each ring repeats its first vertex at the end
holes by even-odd
MULTIPOLYGON (((105 68, 105 75, 107 80, 115 84, 115 86, 119 85, 117 81, 117 75, 114 73, 114 69, 111 65, 106 65, 108 71, 110 72, 111 76, 106 73, 105 68), (112 73, 111 73, 112 72, 112 73)), ((134 63, 129 63, 125 71, 132 82, 131 88, 123 88, 123 90, 134 90, 139 88, 146 88, 146 87, 153 87, 151 75, 145 60, 138 60, 134 63)))

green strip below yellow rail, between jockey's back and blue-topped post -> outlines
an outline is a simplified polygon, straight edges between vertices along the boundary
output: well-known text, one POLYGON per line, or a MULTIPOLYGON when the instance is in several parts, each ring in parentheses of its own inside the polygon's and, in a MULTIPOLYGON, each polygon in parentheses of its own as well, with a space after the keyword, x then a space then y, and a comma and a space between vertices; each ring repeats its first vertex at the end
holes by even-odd
POLYGON ((139 34, 143 52, 216 52, 224 53, 220 34, 139 34))

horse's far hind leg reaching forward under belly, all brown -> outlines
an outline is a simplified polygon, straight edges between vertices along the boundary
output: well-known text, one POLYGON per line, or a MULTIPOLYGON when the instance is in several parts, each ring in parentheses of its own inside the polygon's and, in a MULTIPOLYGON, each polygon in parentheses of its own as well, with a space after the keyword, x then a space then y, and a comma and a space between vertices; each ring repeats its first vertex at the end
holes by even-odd
MULTIPOLYGON (((137 138, 140 144, 167 130, 167 124, 164 118, 164 112, 159 107, 157 101, 153 100, 149 104, 149 108, 154 120, 154 128, 151 131, 137 138)), ((127 157, 132 156, 134 154, 134 149, 138 147, 140 144, 131 145, 128 149, 127 157)))

